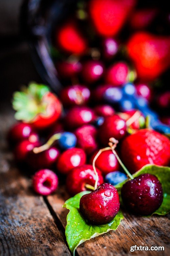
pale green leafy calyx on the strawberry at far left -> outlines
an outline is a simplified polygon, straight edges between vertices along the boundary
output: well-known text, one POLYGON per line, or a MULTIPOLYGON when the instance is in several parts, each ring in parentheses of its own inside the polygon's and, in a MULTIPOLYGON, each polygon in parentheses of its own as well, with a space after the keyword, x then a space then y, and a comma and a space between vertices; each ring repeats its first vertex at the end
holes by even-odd
POLYGON ((48 86, 35 82, 15 92, 12 101, 13 109, 16 110, 15 118, 30 123, 39 113, 45 114, 47 102, 43 101, 43 96, 48 92, 48 86))

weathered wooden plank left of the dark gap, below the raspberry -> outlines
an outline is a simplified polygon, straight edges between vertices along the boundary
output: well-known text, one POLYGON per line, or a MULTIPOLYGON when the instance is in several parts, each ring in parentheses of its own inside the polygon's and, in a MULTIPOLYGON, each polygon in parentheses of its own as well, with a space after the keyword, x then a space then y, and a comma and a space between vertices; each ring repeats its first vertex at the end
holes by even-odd
POLYGON ((12 167, 12 154, 4 141, 10 120, 9 115, 1 115, 0 255, 70 256, 43 197, 34 194, 30 179, 12 167))

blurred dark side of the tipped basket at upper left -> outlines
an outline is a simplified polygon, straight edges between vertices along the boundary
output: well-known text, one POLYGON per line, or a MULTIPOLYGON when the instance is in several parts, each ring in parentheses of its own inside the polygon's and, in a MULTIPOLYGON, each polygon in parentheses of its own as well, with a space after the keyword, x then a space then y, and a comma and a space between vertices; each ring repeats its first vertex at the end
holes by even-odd
POLYGON ((35 67, 51 89, 58 93, 62 84, 52 58, 52 31, 74 10, 77 0, 24 0, 20 13, 21 34, 31 48, 35 67))

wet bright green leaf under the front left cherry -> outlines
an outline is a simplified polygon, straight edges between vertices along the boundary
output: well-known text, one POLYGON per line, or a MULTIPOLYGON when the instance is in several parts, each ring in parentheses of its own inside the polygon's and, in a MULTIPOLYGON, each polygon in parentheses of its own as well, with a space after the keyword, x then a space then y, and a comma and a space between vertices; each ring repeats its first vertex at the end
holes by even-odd
POLYGON ((88 193, 90 193, 90 191, 83 191, 74 197, 69 198, 63 206, 69 209, 65 234, 68 246, 73 255, 75 249, 81 243, 110 230, 116 230, 123 219, 123 214, 119 211, 116 217, 108 224, 98 226, 89 224, 79 211, 80 198, 88 193))

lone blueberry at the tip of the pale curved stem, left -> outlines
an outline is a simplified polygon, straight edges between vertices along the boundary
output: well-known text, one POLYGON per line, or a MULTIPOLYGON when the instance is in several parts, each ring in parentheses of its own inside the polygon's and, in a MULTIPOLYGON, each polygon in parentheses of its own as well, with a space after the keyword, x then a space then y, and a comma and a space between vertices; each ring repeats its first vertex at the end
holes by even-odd
POLYGON ((63 132, 60 139, 58 140, 58 145, 62 149, 68 149, 75 147, 77 144, 77 138, 72 132, 63 132))

